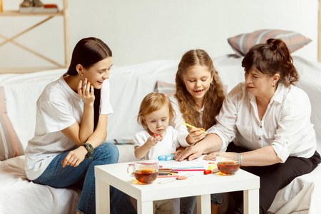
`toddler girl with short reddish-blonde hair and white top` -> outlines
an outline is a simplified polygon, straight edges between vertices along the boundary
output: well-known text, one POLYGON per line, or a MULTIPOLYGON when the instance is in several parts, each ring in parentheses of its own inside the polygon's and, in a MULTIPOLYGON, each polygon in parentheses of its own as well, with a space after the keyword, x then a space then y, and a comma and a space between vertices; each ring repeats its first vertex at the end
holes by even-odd
MULTIPOLYGON (((177 131, 168 126, 173 116, 173 108, 165 94, 152 92, 143 98, 137 121, 145 130, 133 137, 136 158, 150 160, 175 153, 179 147, 177 131)), ((172 200, 156 200, 153 208, 154 213, 171 213, 172 200)))

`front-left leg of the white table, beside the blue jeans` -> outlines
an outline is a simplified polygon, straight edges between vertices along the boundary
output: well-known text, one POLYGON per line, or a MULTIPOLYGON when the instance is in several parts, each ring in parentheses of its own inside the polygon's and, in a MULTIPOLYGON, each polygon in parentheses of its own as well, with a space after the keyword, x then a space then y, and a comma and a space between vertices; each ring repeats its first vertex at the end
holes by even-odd
POLYGON ((110 207, 110 193, 109 185, 103 180, 96 178, 96 213, 109 214, 111 213, 110 207))

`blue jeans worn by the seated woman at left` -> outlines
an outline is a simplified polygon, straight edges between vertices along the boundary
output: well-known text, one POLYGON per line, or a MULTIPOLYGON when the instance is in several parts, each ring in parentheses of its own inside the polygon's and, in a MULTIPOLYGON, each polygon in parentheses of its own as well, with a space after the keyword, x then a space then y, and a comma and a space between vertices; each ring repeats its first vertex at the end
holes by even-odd
MULTIPOLYGON (((95 165, 117 163, 119 152, 113 143, 101 143, 94 149, 91 157, 85 158, 77 167, 66 165, 62 167, 61 161, 68 152, 56 156, 39 178, 32 180, 34 183, 50 185, 54 188, 66 188, 80 185, 81 198, 76 211, 80 213, 96 213, 95 191, 95 165)), ((111 187, 111 213, 136 213, 128 195, 111 187)))

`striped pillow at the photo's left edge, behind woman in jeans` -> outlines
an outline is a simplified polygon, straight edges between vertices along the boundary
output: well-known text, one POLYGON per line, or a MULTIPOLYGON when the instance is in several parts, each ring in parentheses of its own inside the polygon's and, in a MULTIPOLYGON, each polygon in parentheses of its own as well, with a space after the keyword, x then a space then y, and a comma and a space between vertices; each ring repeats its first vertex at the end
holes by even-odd
POLYGON ((6 114, 4 88, 0 88, 0 161, 24 155, 24 149, 6 114))

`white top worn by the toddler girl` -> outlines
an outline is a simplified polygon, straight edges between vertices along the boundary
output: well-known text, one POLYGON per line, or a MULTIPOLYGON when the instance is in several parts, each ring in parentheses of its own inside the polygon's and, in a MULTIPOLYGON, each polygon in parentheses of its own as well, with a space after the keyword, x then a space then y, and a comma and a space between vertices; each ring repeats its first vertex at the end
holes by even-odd
MULTIPOLYGON (((133 137, 134 146, 143 146, 149 136, 151 135, 145 130, 136 133, 133 137)), ((142 159, 152 160, 157 159, 158 156, 170 155, 171 153, 175 153, 176 148, 179 146, 180 145, 177 141, 177 131, 173 128, 173 126, 168 126, 166 129, 166 134, 163 136, 163 140, 158 141, 156 146, 153 146, 142 159)))

